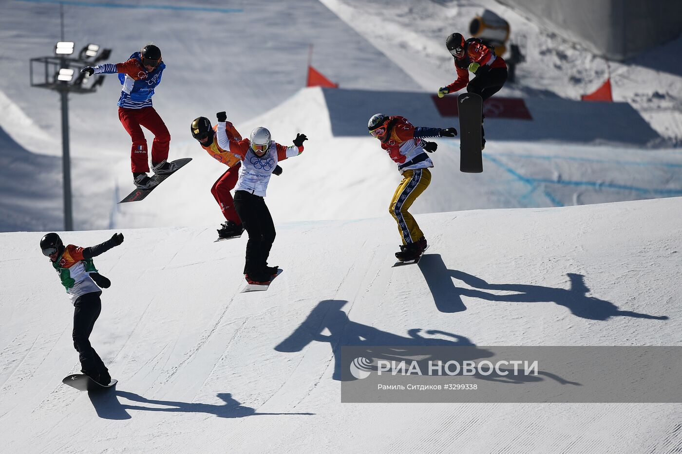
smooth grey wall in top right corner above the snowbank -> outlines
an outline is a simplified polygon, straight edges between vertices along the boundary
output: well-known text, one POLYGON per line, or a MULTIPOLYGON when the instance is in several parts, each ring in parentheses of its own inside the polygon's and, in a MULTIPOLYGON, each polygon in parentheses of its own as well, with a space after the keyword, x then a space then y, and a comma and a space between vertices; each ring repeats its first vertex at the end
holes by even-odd
POLYGON ((624 60, 682 33, 681 0, 498 0, 608 59, 624 60))

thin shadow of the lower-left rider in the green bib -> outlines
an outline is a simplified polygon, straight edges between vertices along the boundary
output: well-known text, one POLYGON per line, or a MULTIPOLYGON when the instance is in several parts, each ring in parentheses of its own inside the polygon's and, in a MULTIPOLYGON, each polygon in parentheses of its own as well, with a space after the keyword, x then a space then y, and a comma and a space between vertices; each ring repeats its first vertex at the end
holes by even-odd
POLYGON ((254 408, 243 406, 233 399, 231 393, 219 393, 218 397, 222 399, 224 404, 199 404, 194 402, 177 402, 172 400, 147 399, 135 393, 128 391, 97 391, 89 392, 90 401, 95 407, 95 411, 100 418, 103 419, 130 419, 131 416, 127 410, 143 410, 148 412, 183 412, 183 413, 207 413, 215 414, 219 418, 243 418, 250 416, 263 415, 283 415, 283 414, 304 414, 312 415, 314 413, 261 413, 256 412, 254 408), (121 404, 119 397, 123 397, 132 402, 140 404, 164 405, 165 408, 150 407, 143 405, 121 404))

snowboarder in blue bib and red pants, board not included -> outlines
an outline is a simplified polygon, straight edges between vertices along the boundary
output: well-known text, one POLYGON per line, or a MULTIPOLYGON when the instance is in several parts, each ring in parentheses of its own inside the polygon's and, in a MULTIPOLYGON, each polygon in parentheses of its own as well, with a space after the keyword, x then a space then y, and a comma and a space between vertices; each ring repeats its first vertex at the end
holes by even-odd
POLYGON ((130 162, 132 177, 140 189, 149 189, 157 181, 147 175, 147 140, 140 126, 154 134, 151 146, 151 165, 155 175, 166 175, 177 170, 173 162, 167 162, 170 133, 159 114, 151 106, 154 89, 161 83, 161 74, 166 65, 161 59, 161 50, 147 44, 123 63, 105 63, 86 66, 80 72, 93 74, 119 74, 123 89, 119 97, 119 119, 132 139, 130 162))

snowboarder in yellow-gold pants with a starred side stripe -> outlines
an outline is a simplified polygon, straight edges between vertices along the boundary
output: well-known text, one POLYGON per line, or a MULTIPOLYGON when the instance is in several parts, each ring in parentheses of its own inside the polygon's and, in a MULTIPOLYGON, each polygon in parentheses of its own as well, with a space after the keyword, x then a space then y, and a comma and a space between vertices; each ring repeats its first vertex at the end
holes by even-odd
POLYGON ((426 249, 427 242, 415 218, 407 211, 419 194, 431 183, 433 162, 428 156, 438 148, 436 142, 428 142, 424 137, 454 137, 454 127, 414 127, 404 117, 385 114, 372 115, 368 129, 373 137, 381 141, 381 148, 386 150, 402 175, 402 181, 389 205, 389 213, 398 223, 398 231, 402 237, 400 251, 396 258, 401 262, 417 260, 426 249))

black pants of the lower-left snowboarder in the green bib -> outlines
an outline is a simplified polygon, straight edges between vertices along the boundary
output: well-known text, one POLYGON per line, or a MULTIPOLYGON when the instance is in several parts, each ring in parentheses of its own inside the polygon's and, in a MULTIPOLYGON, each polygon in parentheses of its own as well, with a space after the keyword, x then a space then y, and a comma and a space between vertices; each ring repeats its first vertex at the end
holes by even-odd
POLYGON ((102 359, 90 345, 90 333, 95 321, 102 312, 102 292, 90 292, 80 295, 74 303, 74 347, 78 352, 80 367, 83 374, 98 379, 99 376, 108 377, 109 371, 102 363, 102 359))

